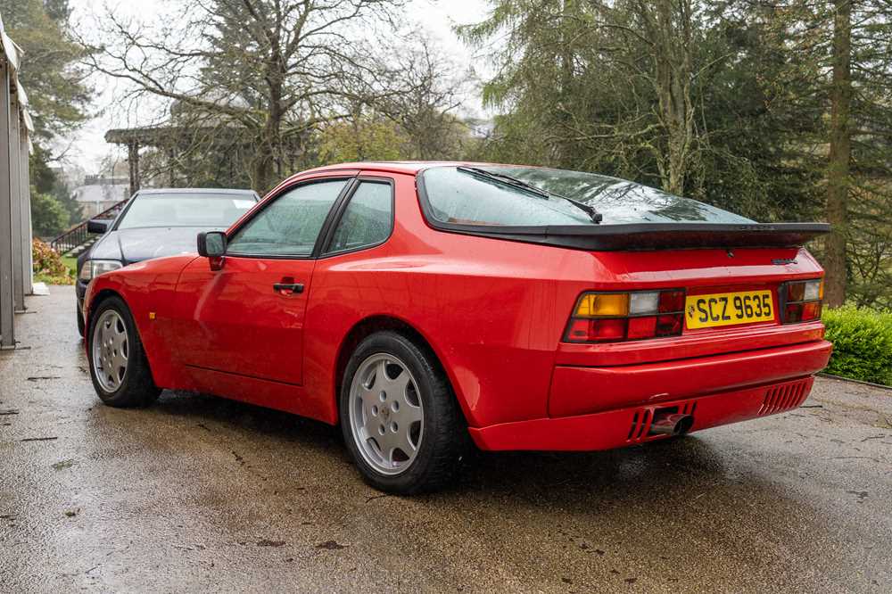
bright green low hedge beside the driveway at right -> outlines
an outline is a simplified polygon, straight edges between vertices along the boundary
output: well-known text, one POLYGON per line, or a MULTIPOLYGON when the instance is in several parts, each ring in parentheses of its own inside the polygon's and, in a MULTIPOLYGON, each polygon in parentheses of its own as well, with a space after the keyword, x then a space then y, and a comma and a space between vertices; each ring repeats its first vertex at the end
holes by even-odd
POLYGON ((846 306, 822 319, 833 342, 827 373, 892 385, 892 313, 846 306))

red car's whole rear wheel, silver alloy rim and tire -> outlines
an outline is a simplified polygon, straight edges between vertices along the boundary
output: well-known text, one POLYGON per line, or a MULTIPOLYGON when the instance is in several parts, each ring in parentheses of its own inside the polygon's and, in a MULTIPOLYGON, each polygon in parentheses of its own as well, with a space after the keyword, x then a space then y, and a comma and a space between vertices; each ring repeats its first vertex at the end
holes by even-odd
POLYGON ((432 353, 402 334, 368 336, 344 372, 344 441, 367 483, 392 493, 448 483, 469 448, 450 384, 432 353))

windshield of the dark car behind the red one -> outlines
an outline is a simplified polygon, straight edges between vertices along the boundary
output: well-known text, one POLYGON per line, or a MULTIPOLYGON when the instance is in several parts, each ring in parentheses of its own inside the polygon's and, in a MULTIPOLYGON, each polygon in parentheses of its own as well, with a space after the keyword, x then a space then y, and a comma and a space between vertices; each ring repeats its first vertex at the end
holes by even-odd
POLYGON ((235 223, 256 203, 253 194, 139 194, 119 229, 136 227, 221 227, 235 223))

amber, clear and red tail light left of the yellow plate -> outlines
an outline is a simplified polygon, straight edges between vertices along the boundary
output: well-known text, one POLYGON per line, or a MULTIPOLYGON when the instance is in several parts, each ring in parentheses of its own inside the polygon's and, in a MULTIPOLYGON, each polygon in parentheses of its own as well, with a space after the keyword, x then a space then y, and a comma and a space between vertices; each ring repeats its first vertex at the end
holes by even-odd
POLYGON ((684 291, 582 293, 566 327, 566 342, 621 342, 679 336, 684 291))

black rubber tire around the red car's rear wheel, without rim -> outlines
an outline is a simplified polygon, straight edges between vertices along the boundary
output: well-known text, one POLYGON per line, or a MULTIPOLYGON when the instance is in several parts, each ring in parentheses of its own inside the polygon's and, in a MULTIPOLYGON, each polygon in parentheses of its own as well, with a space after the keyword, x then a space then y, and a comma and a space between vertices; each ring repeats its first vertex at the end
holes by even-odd
POLYGON ((457 473, 471 448, 467 423, 434 354, 396 332, 378 332, 359 342, 344 370, 339 405, 343 438, 353 462, 365 482, 380 491, 410 495, 441 489, 457 473), (378 354, 401 359, 409 367, 422 402, 424 433, 416 458, 396 475, 383 474, 368 464, 351 428, 353 376, 363 361, 378 354))

